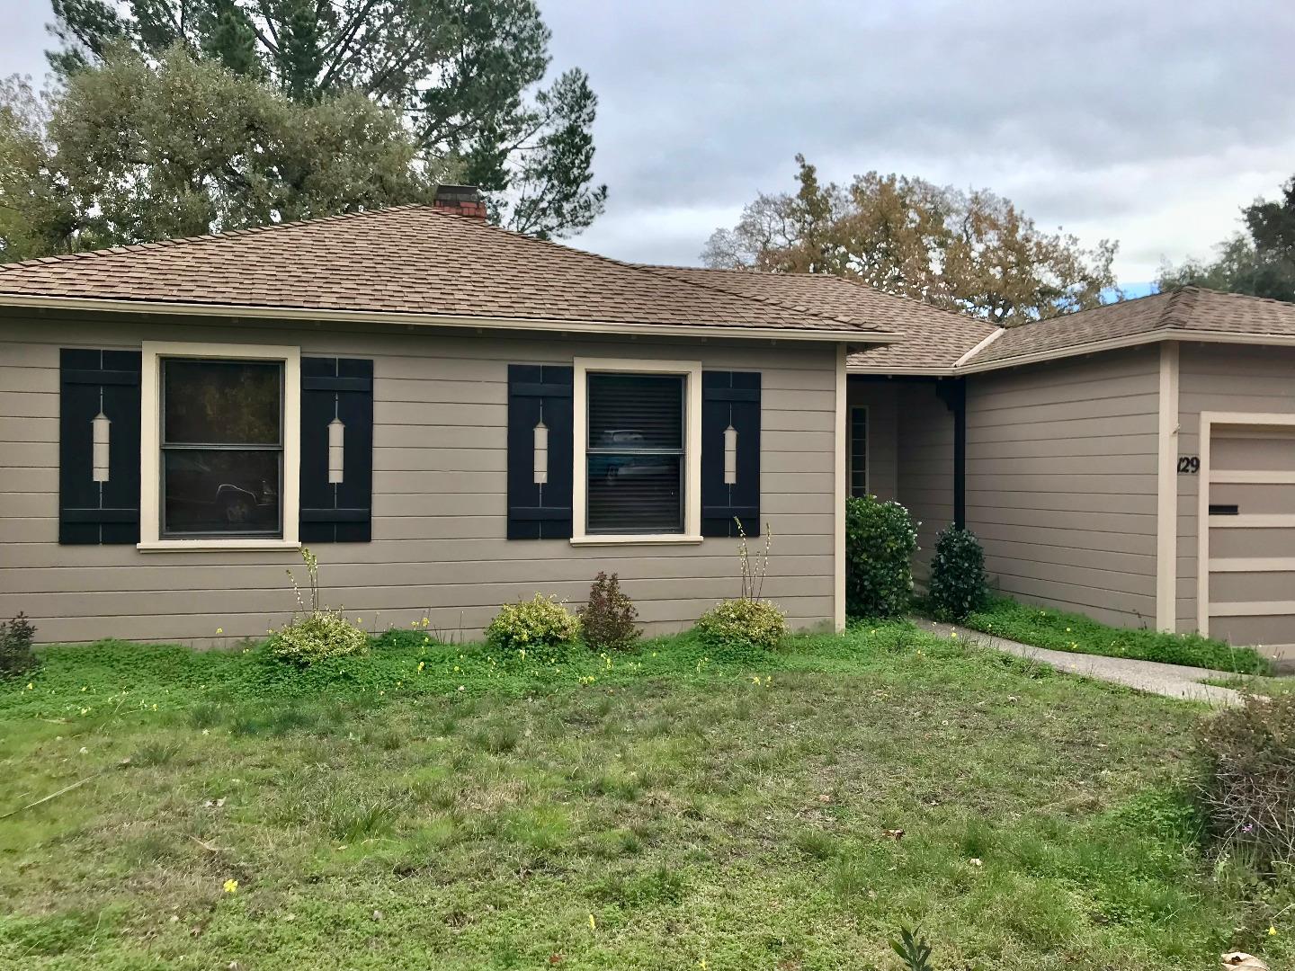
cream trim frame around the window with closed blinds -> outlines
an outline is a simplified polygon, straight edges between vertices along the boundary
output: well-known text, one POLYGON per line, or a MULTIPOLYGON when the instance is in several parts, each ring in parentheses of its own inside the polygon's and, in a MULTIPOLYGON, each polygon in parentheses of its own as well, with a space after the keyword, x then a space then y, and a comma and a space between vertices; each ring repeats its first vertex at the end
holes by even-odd
POLYGON ((702 541, 702 363, 658 361, 633 357, 576 357, 574 361, 571 425, 574 430, 571 545, 615 546, 627 544, 689 545, 702 541), (637 374, 682 374, 684 382, 684 532, 681 533, 628 533, 624 536, 589 533, 588 486, 585 449, 589 436, 589 385, 587 375, 603 372, 629 372, 637 374))

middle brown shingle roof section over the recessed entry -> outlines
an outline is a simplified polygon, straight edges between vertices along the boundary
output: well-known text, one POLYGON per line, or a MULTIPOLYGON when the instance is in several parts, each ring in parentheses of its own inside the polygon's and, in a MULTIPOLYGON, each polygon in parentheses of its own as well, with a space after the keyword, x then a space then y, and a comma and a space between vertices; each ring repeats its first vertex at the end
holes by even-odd
POLYGON ((822 273, 648 265, 644 269, 688 282, 706 282, 742 296, 844 315, 903 335, 899 343, 851 355, 850 366, 857 369, 904 372, 952 368, 962 355, 995 331, 992 324, 982 320, 822 273))

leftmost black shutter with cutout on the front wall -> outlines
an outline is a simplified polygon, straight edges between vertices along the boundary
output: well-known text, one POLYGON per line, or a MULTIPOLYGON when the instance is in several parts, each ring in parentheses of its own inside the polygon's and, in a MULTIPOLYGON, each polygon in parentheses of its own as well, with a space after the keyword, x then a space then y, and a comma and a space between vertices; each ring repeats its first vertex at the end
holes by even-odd
POLYGON ((140 541, 140 352, 63 348, 58 361, 58 541, 140 541), (95 418, 111 422, 95 482, 95 418))

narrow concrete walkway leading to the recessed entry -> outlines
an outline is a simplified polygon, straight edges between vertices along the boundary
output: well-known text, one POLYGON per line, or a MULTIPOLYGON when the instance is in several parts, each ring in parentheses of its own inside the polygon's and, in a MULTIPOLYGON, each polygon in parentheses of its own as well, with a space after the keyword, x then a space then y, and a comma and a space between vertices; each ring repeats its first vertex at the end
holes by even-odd
POLYGON ((1134 660, 1132 658, 1102 658, 1097 654, 1071 654, 1070 651, 1053 651, 1046 647, 1031 647, 1027 643, 1006 641, 993 634, 971 631, 957 624, 939 624, 934 620, 914 618, 923 631, 930 631, 940 637, 956 633, 960 640, 984 643, 1008 654, 1015 654, 1030 660, 1050 664, 1058 671, 1071 675, 1093 677, 1098 681, 1111 681, 1116 685, 1127 685, 1140 691, 1150 694, 1163 694, 1166 698, 1184 698, 1191 702, 1204 702, 1213 706, 1244 704, 1244 698, 1239 691, 1230 687, 1217 687, 1216 685, 1202 685, 1206 678, 1219 680, 1228 677, 1220 671, 1208 668, 1189 668, 1180 664, 1162 664, 1155 660, 1134 660))

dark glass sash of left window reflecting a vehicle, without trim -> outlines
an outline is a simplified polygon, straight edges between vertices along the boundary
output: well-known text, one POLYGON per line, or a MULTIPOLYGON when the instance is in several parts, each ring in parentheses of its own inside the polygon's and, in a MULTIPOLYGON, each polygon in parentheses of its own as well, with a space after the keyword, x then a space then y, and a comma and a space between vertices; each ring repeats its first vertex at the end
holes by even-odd
POLYGON ((282 536, 281 361, 162 359, 162 536, 282 536))

